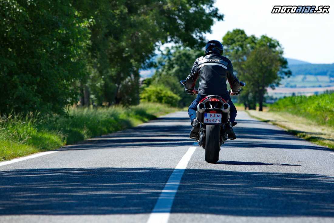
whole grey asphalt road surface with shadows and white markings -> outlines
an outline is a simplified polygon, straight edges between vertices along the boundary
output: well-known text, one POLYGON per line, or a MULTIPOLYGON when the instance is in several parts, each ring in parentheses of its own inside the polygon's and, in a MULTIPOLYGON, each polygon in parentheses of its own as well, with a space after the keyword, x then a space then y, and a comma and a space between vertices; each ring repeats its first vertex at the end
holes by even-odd
POLYGON ((334 151, 237 121, 215 164, 185 111, 2 162, 0 222, 334 222, 334 151))

